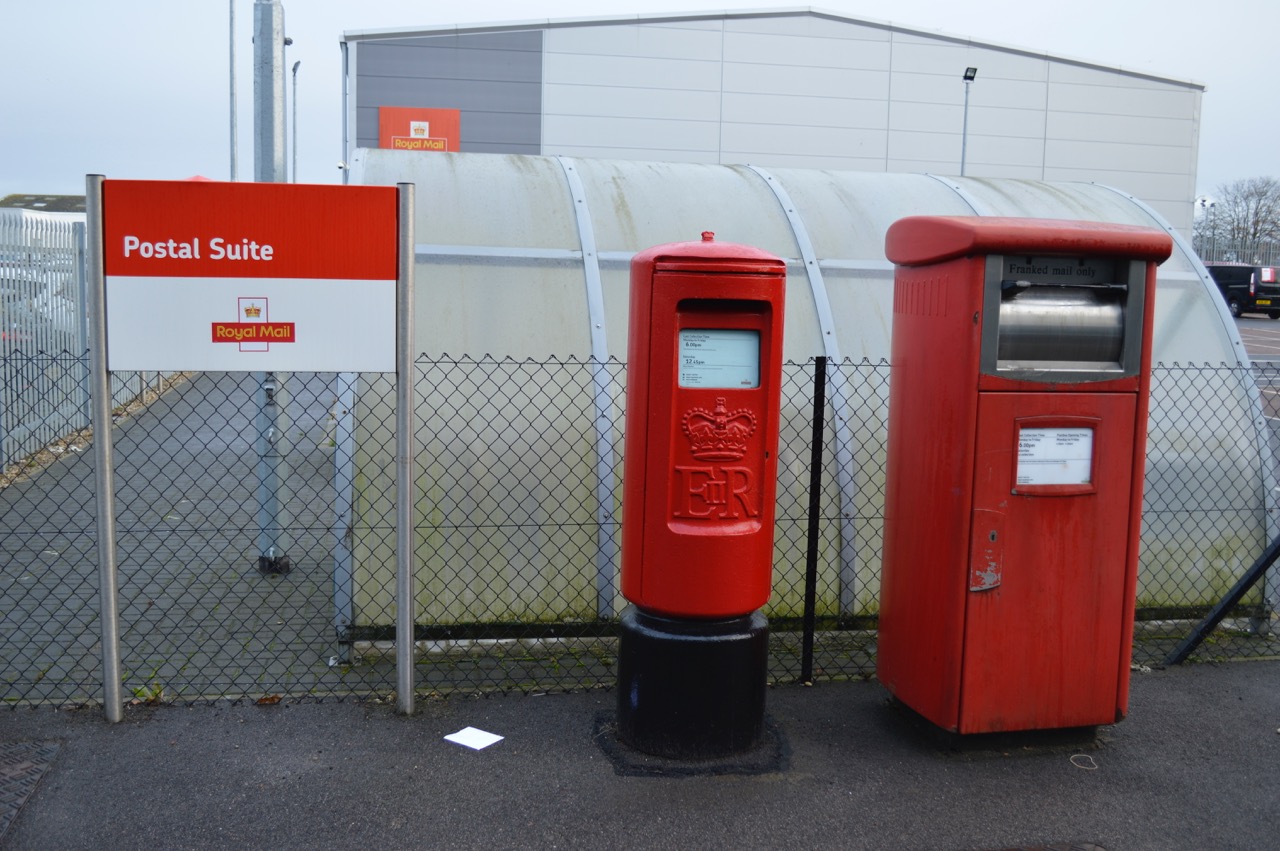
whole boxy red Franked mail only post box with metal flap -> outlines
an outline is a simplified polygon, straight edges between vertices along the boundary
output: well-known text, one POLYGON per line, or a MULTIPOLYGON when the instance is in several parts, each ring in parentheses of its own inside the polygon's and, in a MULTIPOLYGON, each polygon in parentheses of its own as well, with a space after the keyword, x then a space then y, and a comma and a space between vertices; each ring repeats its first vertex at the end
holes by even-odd
POLYGON ((913 216, 896 265, 877 674, 959 733, 1129 695, 1156 265, 1128 225, 913 216))

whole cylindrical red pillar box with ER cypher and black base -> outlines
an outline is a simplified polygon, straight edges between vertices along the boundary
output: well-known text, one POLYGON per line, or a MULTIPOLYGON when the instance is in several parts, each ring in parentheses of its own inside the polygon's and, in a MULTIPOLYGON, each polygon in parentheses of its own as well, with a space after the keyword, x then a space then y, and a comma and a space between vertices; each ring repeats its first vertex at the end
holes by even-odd
POLYGON ((618 732, 648 752, 763 731, 785 287, 710 233, 631 264, 618 732))

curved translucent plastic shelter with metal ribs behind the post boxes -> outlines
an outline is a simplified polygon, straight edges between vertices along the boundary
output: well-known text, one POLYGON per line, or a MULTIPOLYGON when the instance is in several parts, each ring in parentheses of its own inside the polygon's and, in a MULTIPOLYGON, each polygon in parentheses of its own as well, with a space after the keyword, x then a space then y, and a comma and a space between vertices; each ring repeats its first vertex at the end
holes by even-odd
MULTIPOLYGON (((358 151, 352 179, 416 186, 415 349, 430 358, 594 358, 598 365, 625 358, 631 256, 713 230, 718 241, 756 246, 787 261, 786 358, 803 362, 824 354, 874 365, 890 356, 893 270, 884 258, 887 228, 908 215, 980 215, 1170 232, 1175 248, 1158 270, 1153 360, 1165 366, 1247 362, 1235 325, 1189 246, 1148 203, 1106 186, 384 150, 358 151)), ((1143 540, 1139 605, 1161 605, 1171 587, 1181 599, 1216 600, 1224 577, 1238 576, 1239 561, 1268 540, 1271 470, 1257 389, 1245 370, 1225 374, 1234 378, 1199 388, 1193 402, 1174 398, 1161 384, 1152 390, 1146 511, 1162 518, 1164 531, 1148 530, 1143 540), (1225 421, 1256 424, 1257 440, 1222 439, 1215 424, 1225 421), (1193 512, 1206 499, 1224 511, 1213 529, 1197 529, 1189 552, 1179 518, 1199 522, 1193 512)), ((860 385, 859 375, 856 369, 837 370, 828 384, 833 434, 826 475, 828 493, 838 494, 838 512, 836 505, 828 512, 840 521, 838 540, 822 553, 822 586, 833 589, 823 610, 842 614, 874 613, 878 591, 887 383, 860 385)), ((566 386, 556 398, 563 404, 543 403, 547 418, 540 427, 582 443, 576 489, 549 486, 515 497, 495 482, 477 499, 439 482, 456 470, 485 481, 489 468, 512 468, 503 452, 527 452, 527 445, 518 439, 485 445, 435 441, 424 453, 419 535, 433 541, 424 550, 431 553, 428 562, 445 559, 451 571, 474 573, 470 593, 477 595, 502 594, 503 573, 526 576, 545 566, 545 584, 554 586, 545 598, 495 603, 511 617, 543 619, 549 613, 540 607, 548 599, 556 600, 556 617, 608 616, 621 604, 614 582, 621 466, 613 448, 621 447, 622 412, 599 386, 593 394, 590 381, 566 386), (503 505, 512 500, 521 504, 503 505), (582 539, 576 552, 595 553, 577 559, 581 563, 564 555, 575 552, 573 543, 553 534, 540 544, 476 549, 462 543, 477 512, 511 508, 536 517, 566 504, 572 505, 573 535, 582 539), (460 537, 451 541, 451 535, 460 537)), ((378 518, 392 514, 392 426, 376 415, 385 415, 388 403, 384 394, 366 389, 353 408, 357 530, 376 527, 378 518)), ((431 429, 431 403, 424 402, 420 415, 431 429)), ((785 403, 783 418, 792 421, 792 434, 805 434, 810 411, 785 403)), ((780 468, 803 467, 806 452, 783 445, 780 468)), ((803 486, 785 484, 780 498, 795 499, 797 494, 786 493, 791 488, 803 499, 803 486)), ((388 557, 390 541, 356 537, 351 567, 357 609, 364 610, 372 603, 361 598, 361 589, 394 586, 381 581, 394 559, 388 557), (374 575, 381 575, 379 581, 371 581, 374 575)), ((442 567, 428 564, 424 576, 444 576, 442 567)), ((786 575, 801 569, 803 546, 780 543, 777 586, 799 587, 786 575)), ((442 601, 454 598, 434 593, 430 584, 424 581, 420 596, 425 617, 463 618, 442 601)), ((771 613, 795 614, 799 604, 776 594, 771 613)))

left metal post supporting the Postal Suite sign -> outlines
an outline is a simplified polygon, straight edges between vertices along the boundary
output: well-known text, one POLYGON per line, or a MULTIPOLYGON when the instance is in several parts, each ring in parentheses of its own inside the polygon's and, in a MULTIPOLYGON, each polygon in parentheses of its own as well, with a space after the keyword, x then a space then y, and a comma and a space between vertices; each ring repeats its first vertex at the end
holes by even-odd
POLYGON ((102 265, 101 174, 84 178, 88 228, 86 261, 90 296, 90 380, 93 406, 93 479, 97 482, 97 585, 102 627, 102 709, 111 723, 124 719, 120 699, 120 614, 115 566, 115 459, 111 452, 111 388, 106 375, 106 276, 102 265))

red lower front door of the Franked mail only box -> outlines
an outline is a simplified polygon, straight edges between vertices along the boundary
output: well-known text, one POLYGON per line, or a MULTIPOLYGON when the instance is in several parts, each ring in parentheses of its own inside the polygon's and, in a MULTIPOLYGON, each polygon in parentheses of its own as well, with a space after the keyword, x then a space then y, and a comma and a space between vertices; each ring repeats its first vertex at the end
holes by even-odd
POLYGON ((1116 719, 1135 416, 1134 394, 982 394, 972 540, 1000 571, 965 600, 960 732, 1116 719), (1087 485, 1019 484, 1020 431, 1050 427, 1091 435, 1087 485))

